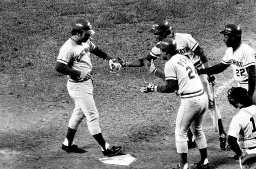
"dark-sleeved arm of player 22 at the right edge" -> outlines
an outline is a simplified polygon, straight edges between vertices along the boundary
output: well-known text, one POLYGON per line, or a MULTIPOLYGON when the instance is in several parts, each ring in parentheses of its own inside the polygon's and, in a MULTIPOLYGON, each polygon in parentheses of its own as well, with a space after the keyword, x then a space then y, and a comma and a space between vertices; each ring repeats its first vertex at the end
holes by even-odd
POLYGON ((256 83, 256 70, 255 65, 248 66, 246 68, 248 73, 248 95, 253 96, 255 90, 255 83, 256 83))

